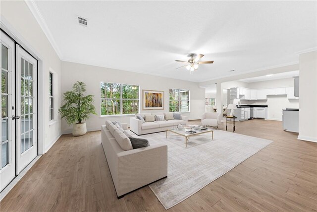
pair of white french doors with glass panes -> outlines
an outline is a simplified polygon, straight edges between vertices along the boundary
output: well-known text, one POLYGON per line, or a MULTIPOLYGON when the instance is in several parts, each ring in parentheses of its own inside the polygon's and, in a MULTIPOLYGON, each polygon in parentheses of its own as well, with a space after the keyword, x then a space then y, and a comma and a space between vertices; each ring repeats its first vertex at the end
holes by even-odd
POLYGON ((38 154, 37 61, 1 31, 0 191, 38 154))

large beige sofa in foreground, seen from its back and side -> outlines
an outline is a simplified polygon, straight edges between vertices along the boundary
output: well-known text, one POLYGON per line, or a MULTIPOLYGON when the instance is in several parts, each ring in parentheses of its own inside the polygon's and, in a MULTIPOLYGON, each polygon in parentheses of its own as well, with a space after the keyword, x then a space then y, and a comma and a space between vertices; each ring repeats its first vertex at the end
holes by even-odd
MULTIPOLYGON (((122 127, 128 131, 127 124, 122 124, 122 127)), ((150 144, 125 151, 106 125, 101 127, 101 137, 118 199, 124 194, 167 177, 167 145, 150 144)))

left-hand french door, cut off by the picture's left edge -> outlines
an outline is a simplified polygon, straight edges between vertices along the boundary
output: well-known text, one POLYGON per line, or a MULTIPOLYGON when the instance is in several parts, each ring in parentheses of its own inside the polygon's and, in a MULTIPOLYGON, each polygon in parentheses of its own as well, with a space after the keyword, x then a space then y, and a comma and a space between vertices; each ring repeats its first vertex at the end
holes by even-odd
POLYGON ((1 129, 0 129, 0 191, 15 177, 15 93, 14 42, 3 32, 1 36, 1 129))

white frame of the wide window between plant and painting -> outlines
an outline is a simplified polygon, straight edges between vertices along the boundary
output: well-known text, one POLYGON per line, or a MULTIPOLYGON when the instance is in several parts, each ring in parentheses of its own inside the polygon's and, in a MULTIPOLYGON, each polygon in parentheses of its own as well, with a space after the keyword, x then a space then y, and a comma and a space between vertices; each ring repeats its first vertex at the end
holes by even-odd
POLYGON ((116 82, 105 82, 102 81, 100 82, 100 117, 115 117, 115 116, 133 116, 134 113, 132 114, 123 114, 123 101, 124 100, 134 100, 134 101, 138 101, 138 112, 140 113, 140 85, 136 85, 136 84, 127 84, 127 83, 116 83, 116 82), (120 98, 102 98, 102 93, 101 93, 101 84, 102 83, 111 83, 111 84, 119 84, 120 85, 120 98), (133 85, 133 86, 138 86, 138 98, 137 99, 127 99, 127 98, 122 98, 122 87, 123 85, 133 85), (102 115, 102 102, 103 100, 119 100, 120 102, 120 114, 111 114, 111 115, 102 115))

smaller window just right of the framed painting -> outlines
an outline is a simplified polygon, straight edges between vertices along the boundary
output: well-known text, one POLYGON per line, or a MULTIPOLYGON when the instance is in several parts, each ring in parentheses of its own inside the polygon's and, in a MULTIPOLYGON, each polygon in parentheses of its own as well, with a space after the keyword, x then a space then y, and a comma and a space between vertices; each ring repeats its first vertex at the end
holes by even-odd
POLYGON ((169 89, 169 112, 189 112, 189 90, 169 89))

